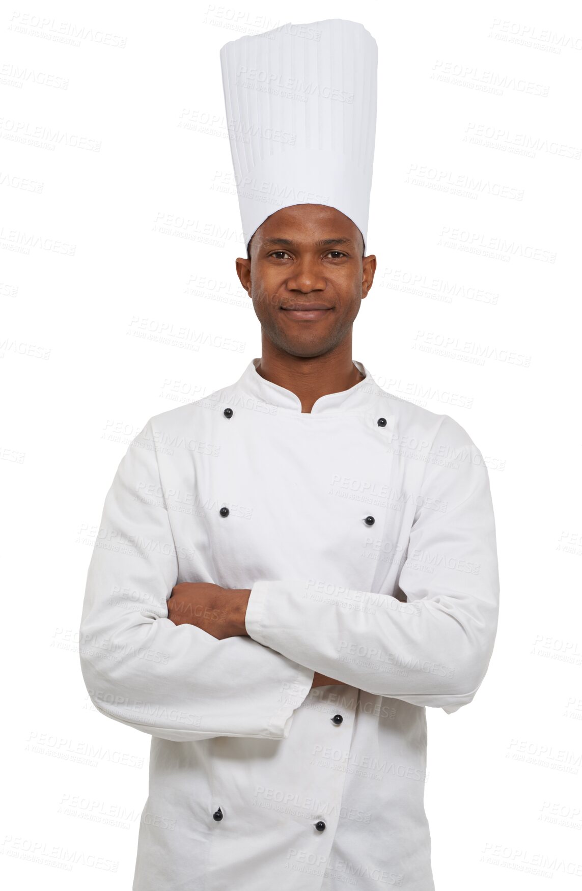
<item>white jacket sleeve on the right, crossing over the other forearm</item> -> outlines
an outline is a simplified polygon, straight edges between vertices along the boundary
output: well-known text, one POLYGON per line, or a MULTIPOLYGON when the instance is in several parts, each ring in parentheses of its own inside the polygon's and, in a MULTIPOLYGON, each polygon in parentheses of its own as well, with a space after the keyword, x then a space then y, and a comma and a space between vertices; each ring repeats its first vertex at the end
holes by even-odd
POLYGON ((245 623, 255 641, 322 674, 450 714, 487 672, 499 577, 488 470, 460 424, 442 418, 398 580, 407 601, 320 579, 260 580, 245 623))

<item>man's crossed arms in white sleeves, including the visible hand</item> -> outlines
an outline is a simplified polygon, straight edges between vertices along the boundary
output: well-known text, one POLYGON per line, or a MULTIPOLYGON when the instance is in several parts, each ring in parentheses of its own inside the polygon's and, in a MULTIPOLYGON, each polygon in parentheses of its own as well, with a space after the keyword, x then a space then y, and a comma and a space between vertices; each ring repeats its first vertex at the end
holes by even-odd
POLYGON ((119 463, 87 572, 79 657, 94 706, 152 736, 194 741, 286 738, 320 683, 447 713, 471 702, 496 637, 495 523, 480 453, 442 418, 435 448, 463 446, 467 460, 423 470, 412 559, 398 578, 406 603, 373 592, 355 603, 346 589, 306 596, 307 582, 287 579, 234 592, 176 584, 168 511, 145 495, 163 491, 148 421, 119 463), (447 510, 424 507, 436 502, 447 510), (204 617, 213 598, 222 622, 204 617))

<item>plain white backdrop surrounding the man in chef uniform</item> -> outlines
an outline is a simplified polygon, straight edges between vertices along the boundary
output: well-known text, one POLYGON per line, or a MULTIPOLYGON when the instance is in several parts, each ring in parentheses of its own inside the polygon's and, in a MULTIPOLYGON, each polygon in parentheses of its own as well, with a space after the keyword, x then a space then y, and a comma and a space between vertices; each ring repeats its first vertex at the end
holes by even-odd
POLYGON ((8 887, 131 887, 150 739, 88 698, 86 569, 106 491, 145 421, 260 356, 234 268, 245 254, 219 49, 330 17, 361 21, 380 56, 368 233, 378 270, 353 356, 381 387, 463 425, 496 510, 501 614, 488 675, 470 707, 427 709, 437 891, 576 886, 576 6, 4 6, 8 887))

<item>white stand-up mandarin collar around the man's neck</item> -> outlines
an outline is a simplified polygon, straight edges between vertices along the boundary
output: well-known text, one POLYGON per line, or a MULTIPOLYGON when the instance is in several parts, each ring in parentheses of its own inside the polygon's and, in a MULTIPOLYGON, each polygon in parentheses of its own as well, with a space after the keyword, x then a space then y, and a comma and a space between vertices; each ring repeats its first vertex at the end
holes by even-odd
POLYGON ((266 405, 274 405, 278 411, 300 414, 303 417, 307 417, 309 414, 327 415, 365 411, 365 406, 369 404, 371 396, 377 396, 379 393, 386 395, 376 381, 373 380, 371 373, 365 365, 358 362, 357 359, 353 359, 352 361, 358 371, 365 375, 364 379, 360 380, 353 387, 341 390, 339 393, 327 393, 325 396, 319 396, 311 412, 302 413, 301 401, 296 393, 261 377, 257 371, 259 361, 260 359, 258 358, 250 360, 241 377, 237 380, 235 388, 247 396, 252 396, 259 402, 266 403, 266 405))

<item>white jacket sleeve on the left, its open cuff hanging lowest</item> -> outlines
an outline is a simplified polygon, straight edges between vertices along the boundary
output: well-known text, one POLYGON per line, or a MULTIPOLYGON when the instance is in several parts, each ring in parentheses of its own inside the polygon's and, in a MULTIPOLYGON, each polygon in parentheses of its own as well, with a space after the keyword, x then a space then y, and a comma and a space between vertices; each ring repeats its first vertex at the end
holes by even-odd
POLYGON ((119 463, 87 572, 79 657, 89 696, 164 740, 286 738, 313 669, 250 637, 174 625, 177 576, 150 419, 119 463))

